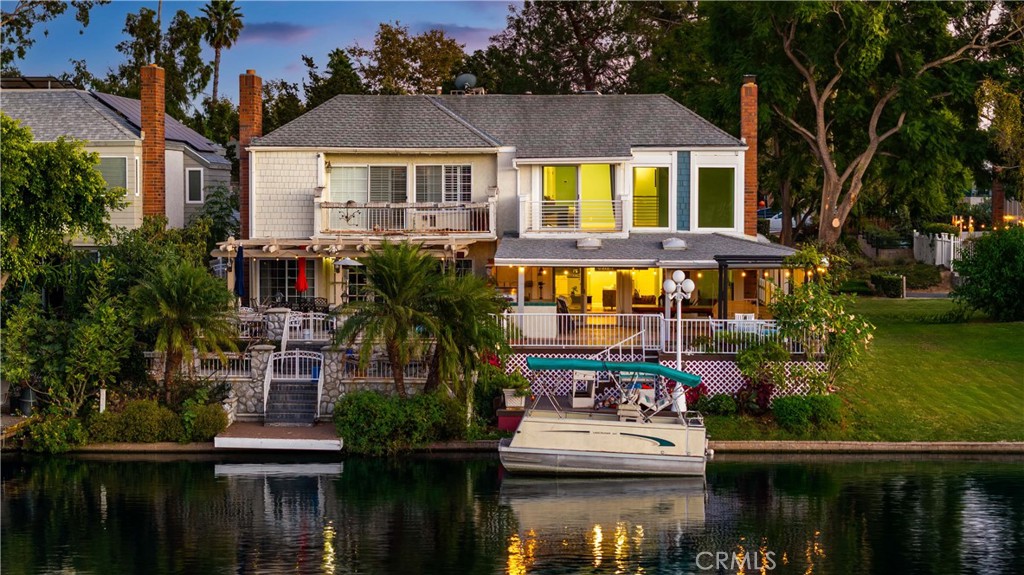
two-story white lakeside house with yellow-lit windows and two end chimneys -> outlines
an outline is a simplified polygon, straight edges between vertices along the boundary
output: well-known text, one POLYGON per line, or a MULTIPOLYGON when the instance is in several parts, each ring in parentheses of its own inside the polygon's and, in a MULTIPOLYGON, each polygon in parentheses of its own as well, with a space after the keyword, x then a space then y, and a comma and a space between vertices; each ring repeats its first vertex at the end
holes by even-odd
POLYGON ((753 78, 744 140, 667 96, 589 94, 339 95, 261 136, 260 80, 241 83, 243 231, 215 255, 245 248, 257 303, 342 304, 361 281, 343 258, 406 238, 519 313, 662 313, 683 269, 690 312, 763 316, 788 281, 793 250, 756 235, 753 78))

